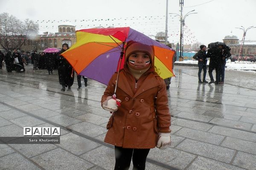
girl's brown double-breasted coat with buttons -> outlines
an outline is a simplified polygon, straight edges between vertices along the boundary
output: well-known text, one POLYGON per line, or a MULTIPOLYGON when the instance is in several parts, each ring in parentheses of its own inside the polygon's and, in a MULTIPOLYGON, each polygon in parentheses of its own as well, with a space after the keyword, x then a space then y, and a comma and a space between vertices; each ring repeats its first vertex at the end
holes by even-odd
MULTIPOLYGON (((112 96, 116 84, 114 74, 102 96, 102 102, 112 96)), ((149 69, 137 81, 128 68, 119 73, 116 98, 121 106, 108 122, 105 142, 124 148, 148 149, 157 144, 158 133, 169 133, 169 113, 166 85, 162 78, 149 69)))

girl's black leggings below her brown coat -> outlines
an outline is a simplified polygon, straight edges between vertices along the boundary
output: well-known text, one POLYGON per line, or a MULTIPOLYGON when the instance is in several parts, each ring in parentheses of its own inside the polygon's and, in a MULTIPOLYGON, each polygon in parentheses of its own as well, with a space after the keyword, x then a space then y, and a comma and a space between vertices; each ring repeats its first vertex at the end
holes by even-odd
POLYGON ((133 162, 133 170, 145 170, 150 149, 130 149, 115 146, 116 164, 114 170, 128 170, 133 162))

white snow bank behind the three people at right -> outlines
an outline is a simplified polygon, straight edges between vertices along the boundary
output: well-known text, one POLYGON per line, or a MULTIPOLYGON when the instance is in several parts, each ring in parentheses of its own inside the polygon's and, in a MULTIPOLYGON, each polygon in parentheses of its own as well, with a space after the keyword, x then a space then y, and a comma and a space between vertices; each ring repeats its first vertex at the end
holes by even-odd
MULTIPOLYGON (((177 63, 186 63, 186 64, 198 64, 198 61, 193 60, 185 60, 185 61, 176 61, 177 63)), ((207 62, 209 65, 209 60, 207 62)), ((235 61, 230 62, 230 59, 227 60, 226 63, 227 70, 253 70, 256 71, 256 62, 248 62, 248 61, 235 61)))

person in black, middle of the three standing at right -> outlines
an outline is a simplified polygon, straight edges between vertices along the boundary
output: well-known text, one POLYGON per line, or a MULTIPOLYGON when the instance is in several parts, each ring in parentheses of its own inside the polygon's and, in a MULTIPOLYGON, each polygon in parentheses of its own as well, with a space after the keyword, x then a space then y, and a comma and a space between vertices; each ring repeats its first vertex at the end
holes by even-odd
POLYGON ((207 58, 210 58, 209 62, 209 77, 211 81, 209 84, 214 82, 212 71, 215 69, 216 72, 216 81, 215 85, 218 85, 219 82, 219 74, 221 71, 221 57, 222 57, 222 45, 218 45, 218 47, 209 48, 207 51, 207 58))

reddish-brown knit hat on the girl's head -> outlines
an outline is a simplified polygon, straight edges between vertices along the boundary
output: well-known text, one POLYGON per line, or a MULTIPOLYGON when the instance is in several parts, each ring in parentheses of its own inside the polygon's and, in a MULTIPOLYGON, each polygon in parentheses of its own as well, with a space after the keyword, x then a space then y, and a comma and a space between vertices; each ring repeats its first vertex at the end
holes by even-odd
POLYGON ((129 41, 127 43, 127 46, 125 48, 125 61, 128 60, 128 57, 136 52, 144 52, 148 54, 151 63, 153 62, 154 58, 154 50, 151 45, 145 45, 140 42, 135 42, 135 41, 129 41))

